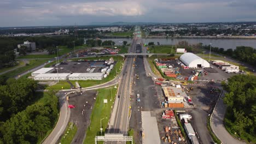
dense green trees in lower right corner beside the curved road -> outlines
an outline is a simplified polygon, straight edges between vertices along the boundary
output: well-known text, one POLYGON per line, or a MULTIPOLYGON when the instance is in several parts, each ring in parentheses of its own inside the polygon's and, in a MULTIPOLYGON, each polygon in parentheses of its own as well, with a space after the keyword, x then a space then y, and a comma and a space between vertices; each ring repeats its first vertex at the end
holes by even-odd
POLYGON ((226 128, 249 142, 256 142, 256 76, 236 75, 224 85, 227 112, 226 128))

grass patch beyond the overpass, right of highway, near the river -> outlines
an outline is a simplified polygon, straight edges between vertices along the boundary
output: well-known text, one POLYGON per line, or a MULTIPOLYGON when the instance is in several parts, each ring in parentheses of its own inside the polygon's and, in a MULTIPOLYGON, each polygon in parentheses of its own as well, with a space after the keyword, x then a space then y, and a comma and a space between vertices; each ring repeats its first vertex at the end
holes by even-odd
POLYGON ((149 52, 152 53, 175 53, 175 46, 173 45, 154 45, 149 46, 149 52))

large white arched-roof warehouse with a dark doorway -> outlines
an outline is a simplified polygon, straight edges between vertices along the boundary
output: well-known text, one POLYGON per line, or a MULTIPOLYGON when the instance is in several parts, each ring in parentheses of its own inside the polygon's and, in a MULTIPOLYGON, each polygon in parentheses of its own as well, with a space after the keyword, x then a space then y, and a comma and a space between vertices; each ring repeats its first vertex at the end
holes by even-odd
POLYGON ((205 59, 202 59, 199 56, 196 56, 194 53, 187 52, 181 55, 179 59, 187 65, 189 68, 209 68, 210 63, 205 61, 205 59))

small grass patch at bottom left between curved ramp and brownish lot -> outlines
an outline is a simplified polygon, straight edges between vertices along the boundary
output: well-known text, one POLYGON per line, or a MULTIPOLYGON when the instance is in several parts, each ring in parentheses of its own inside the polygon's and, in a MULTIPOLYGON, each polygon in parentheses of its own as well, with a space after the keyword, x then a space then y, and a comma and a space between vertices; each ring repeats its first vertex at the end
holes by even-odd
POLYGON ((75 136, 75 133, 77 133, 77 125, 73 124, 72 129, 72 123, 68 123, 68 127, 65 130, 65 133, 62 135, 60 143, 61 144, 69 144, 72 142, 73 137, 75 136))

